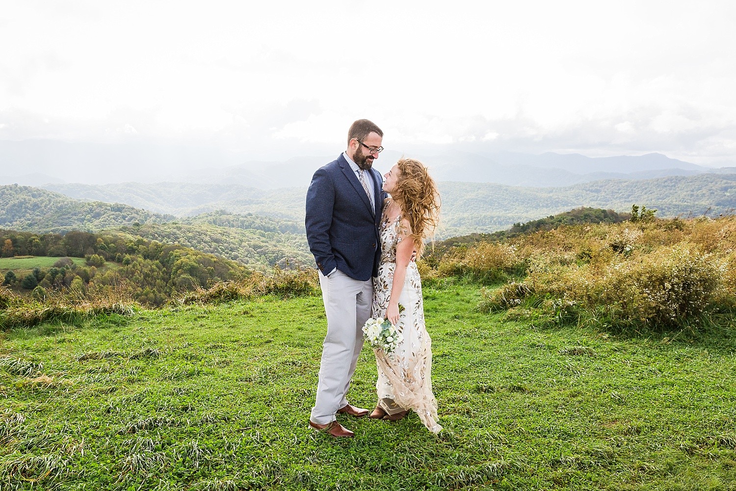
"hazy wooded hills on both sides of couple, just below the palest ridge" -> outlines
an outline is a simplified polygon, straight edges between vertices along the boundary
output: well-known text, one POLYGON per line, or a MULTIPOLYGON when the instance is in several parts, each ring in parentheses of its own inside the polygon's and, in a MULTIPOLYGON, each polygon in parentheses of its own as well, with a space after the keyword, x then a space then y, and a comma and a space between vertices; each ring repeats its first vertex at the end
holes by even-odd
MULTIPOLYGON (((79 198, 127 202, 179 216, 227 210, 254 213, 301 224, 306 188, 259 190, 245 186, 126 183, 83 186, 49 185, 79 198)), ((657 216, 718 215, 736 208, 736 174, 698 174, 649 180, 600 180, 559 188, 522 188, 493 183, 439 183, 442 225, 439 239, 491 233, 517 222, 562 213, 581 206, 627 212, 639 203, 657 208, 657 216)), ((219 224, 218 224, 219 225, 219 224)))

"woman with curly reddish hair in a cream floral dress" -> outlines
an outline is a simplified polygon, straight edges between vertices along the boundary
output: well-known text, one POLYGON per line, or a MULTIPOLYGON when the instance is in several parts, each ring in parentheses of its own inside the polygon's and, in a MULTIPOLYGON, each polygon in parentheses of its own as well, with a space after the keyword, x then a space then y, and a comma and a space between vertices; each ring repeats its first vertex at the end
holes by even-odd
POLYGON ((427 169, 417 160, 401 159, 385 174, 391 195, 381 218, 381 263, 375 280, 372 316, 386 318, 403 335, 393 353, 376 349, 378 404, 370 417, 396 421, 415 411, 437 433, 437 402, 432 393, 432 341, 424 323, 422 281, 414 251, 437 225, 439 194, 427 169), (400 311, 400 307, 403 307, 400 311))

